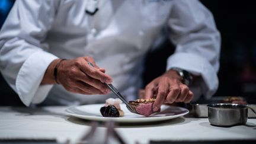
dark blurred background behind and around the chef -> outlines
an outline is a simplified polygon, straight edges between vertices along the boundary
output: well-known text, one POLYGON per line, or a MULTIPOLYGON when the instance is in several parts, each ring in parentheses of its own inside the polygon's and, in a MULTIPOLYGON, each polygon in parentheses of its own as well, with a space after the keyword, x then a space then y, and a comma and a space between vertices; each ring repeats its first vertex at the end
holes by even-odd
MULTIPOLYGON (((220 55, 219 88, 216 96, 244 97, 248 103, 256 104, 256 8, 254 1, 201 0, 212 11, 218 30, 222 35, 220 55)), ((0 28, 14 0, 0 0, 0 28)), ((162 48, 149 53, 146 73, 143 78, 148 84, 165 71, 165 60, 173 50, 166 40, 162 48), (159 59, 158 65, 150 65, 152 57, 159 59), (155 71, 159 69, 159 71, 155 71)), ((23 105, 20 98, 0 75, 0 105, 23 105)))

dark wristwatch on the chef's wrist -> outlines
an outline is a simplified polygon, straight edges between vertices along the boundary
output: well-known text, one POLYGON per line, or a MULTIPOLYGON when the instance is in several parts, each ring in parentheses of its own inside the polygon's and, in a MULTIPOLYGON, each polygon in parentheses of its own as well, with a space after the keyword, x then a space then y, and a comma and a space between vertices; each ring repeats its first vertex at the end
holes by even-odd
POLYGON ((178 73, 178 75, 181 76, 181 82, 185 85, 190 85, 193 81, 193 76, 191 76, 191 74, 187 71, 185 71, 184 69, 180 69, 180 68, 171 68, 171 70, 174 70, 178 73))

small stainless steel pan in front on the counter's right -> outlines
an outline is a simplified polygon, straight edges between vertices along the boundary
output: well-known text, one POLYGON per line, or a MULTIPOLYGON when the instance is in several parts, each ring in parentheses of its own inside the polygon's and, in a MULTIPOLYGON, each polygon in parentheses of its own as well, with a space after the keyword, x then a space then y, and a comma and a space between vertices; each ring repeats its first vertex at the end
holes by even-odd
POLYGON ((213 126, 231 127, 247 123, 248 107, 240 104, 208 104, 208 119, 213 126))

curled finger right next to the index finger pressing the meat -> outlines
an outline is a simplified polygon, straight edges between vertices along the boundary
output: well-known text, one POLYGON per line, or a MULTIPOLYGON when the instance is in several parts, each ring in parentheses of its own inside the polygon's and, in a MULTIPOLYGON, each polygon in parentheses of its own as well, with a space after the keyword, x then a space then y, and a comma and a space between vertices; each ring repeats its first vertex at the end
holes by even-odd
POLYGON ((178 95, 180 94, 180 86, 178 84, 172 84, 169 88, 169 94, 167 95, 167 103, 171 104, 177 100, 178 95))

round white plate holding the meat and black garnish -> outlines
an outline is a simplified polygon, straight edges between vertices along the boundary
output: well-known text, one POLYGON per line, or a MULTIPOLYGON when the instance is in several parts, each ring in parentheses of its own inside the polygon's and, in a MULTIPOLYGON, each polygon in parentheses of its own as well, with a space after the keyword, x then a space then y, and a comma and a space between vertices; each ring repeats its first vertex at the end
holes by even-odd
POLYGON ((103 117, 100 113, 100 108, 104 104, 90 104, 71 107, 66 109, 66 113, 71 116, 79 117, 86 120, 95 121, 117 121, 121 123, 141 123, 141 122, 152 122, 169 120, 177 117, 184 116, 189 111, 186 108, 175 107, 169 105, 162 105, 159 113, 154 113, 149 117, 142 116, 140 114, 131 113, 127 110, 124 104, 121 104, 121 109, 124 111, 123 117, 103 117))

